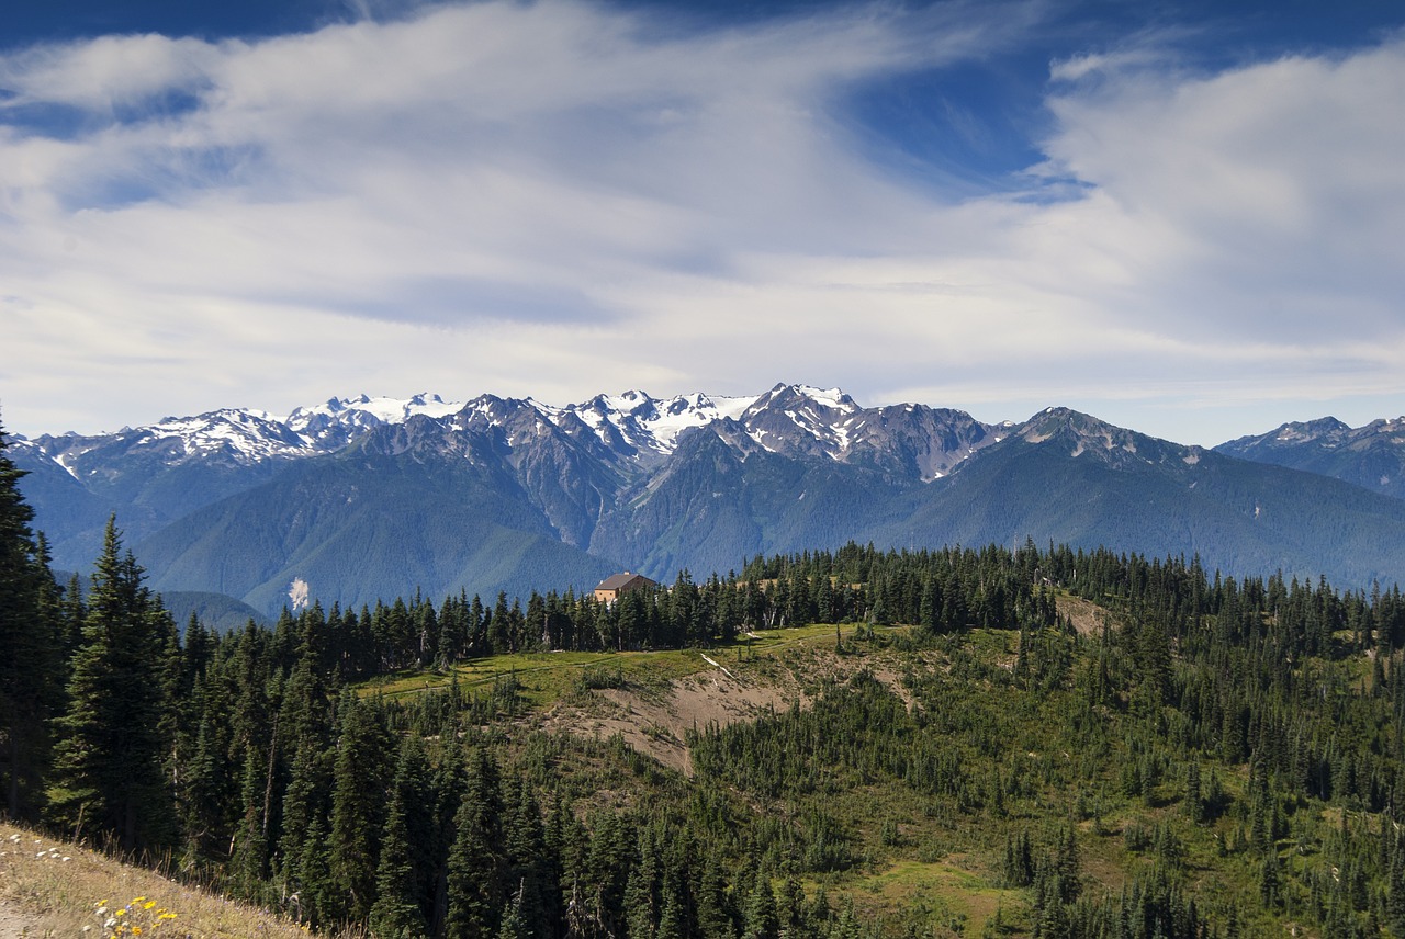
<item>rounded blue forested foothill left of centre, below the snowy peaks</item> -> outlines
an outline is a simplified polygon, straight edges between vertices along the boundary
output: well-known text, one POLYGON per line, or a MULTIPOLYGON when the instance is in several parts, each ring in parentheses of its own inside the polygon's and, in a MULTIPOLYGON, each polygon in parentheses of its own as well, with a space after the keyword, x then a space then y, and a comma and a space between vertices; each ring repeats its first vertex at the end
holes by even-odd
POLYGON ((374 604, 422 588, 525 594, 593 585, 614 564, 556 539, 492 467, 354 453, 295 466, 136 545, 156 590, 201 585, 274 612, 311 597, 374 604))

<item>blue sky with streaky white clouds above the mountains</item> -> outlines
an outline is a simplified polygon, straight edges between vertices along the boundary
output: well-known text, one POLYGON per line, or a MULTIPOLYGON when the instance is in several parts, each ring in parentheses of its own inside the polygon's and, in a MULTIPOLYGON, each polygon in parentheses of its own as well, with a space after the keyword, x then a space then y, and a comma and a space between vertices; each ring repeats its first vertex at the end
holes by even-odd
POLYGON ((20 0, 0 421, 1405 413, 1405 4, 20 0))

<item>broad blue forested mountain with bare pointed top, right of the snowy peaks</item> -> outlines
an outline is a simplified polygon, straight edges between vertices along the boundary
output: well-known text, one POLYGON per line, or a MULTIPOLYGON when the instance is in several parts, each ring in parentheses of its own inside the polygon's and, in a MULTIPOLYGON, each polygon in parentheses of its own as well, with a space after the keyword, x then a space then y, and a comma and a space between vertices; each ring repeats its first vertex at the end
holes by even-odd
POLYGON ((1161 557, 1198 553, 1211 570, 1364 585, 1405 574, 1402 510, 1339 480, 1051 408, 924 493, 908 531, 923 543, 1033 538, 1161 557))

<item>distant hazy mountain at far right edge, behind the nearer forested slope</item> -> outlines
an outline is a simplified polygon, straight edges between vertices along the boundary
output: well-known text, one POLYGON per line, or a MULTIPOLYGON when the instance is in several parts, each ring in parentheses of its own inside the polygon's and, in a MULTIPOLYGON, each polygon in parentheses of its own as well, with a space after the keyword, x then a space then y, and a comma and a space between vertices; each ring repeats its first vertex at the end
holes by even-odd
POLYGON ((1215 448, 1259 463, 1332 476, 1375 493, 1405 498, 1405 417, 1347 427, 1335 417, 1284 424, 1215 448))

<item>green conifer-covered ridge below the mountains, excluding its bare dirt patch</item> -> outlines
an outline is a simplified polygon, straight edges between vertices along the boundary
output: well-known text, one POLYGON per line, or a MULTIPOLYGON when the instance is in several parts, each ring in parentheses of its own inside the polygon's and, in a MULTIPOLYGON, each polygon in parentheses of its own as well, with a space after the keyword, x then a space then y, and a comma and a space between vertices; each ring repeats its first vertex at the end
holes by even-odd
POLYGON ((1405 939, 1394 585, 847 545, 222 634, 177 629, 115 524, 55 584, 17 477, 0 446, 6 814, 315 929, 1405 939), (544 723, 659 693, 680 648, 792 703, 688 730, 691 775, 544 723), (590 653, 555 700, 518 671, 549 651, 590 653))

